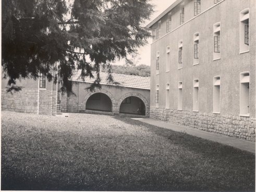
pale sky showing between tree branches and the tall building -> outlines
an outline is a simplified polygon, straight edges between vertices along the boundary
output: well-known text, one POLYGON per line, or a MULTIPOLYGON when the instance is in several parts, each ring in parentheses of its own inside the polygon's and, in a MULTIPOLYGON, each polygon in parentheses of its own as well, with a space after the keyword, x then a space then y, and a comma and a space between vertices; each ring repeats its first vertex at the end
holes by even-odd
MULTIPOLYGON (((170 5, 172 5, 176 0, 151 0, 151 4, 154 5, 154 13, 151 16, 151 19, 147 22, 145 22, 145 25, 149 24, 152 20, 154 20, 157 16, 159 16, 165 9, 167 9, 170 5)), ((145 45, 143 47, 140 47, 138 49, 138 57, 141 58, 137 64, 145 64, 150 65, 150 44, 152 42, 152 39, 150 38, 148 40, 149 44, 145 45)), ((125 61, 116 61, 114 64, 124 64, 125 61)))

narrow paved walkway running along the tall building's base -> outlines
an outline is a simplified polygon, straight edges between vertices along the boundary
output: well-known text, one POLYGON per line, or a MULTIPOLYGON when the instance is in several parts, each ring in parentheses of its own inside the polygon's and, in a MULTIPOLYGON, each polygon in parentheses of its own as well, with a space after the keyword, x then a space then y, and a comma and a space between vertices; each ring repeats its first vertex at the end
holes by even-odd
POLYGON ((233 146, 242 150, 247 150, 248 152, 255 154, 255 142, 240 140, 238 138, 232 138, 230 136, 202 131, 199 129, 168 124, 167 122, 158 121, 150 118, 132 118, 132 119, 136 119, 141 122, 145 122, 147 124, 157 126, 157 127, 162 127, 165 129, 171 129, 178 132, 186 132, 190 135, 197 136, 199 138, 208 139, 211 141, 222 143, 224 145, 233 146))

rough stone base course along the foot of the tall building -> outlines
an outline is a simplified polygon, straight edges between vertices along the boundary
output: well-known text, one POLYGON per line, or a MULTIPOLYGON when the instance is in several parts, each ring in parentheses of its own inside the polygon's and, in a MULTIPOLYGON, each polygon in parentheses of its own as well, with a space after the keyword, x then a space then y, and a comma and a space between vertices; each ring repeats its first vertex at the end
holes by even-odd
POLYGON ((255 117, 150 108, 150 117, 255 142, 255 117))

